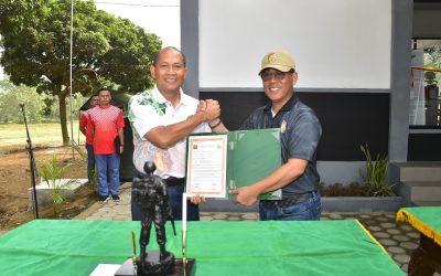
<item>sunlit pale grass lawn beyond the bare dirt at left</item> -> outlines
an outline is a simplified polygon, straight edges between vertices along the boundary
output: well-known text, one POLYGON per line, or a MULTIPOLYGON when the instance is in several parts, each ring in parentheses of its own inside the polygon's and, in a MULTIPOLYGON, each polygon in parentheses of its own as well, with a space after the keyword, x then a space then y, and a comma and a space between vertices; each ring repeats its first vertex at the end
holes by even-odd
MULTIPOLYGON (((33 147, 63 146, 60 123, 29 124, 29 135, 33 147)), ((71 121, 67 123, 71 135, 71 121)), ((74 140, 78 142, 78 120, 74 120, 74 140)), ((24 124, 0 125, 0 152, 8 152, 26 147, 26 128, 24 124)), ((85 142, 85 137, 79 134, 79 142, 85 142)))

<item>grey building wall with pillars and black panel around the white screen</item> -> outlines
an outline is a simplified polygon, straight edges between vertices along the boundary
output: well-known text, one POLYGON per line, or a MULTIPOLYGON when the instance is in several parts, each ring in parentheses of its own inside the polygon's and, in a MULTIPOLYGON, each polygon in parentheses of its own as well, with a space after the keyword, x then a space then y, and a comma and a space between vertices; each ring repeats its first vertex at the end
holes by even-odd
MULTIPOLYGON (((266 98, 261 88, 228 87, 227 82, 223 87, 200 86, 200 34, 195 31, 200 30, 198 4, 198 0, 181 2, 182 50, 187 57, 191 56, 187 59, 191 75, 184 88, 195 97, 218 99, 223 108, 222 119, 236 129, 252 109, 266 103, 266 98)), ((359 145, 365 142, 374 156, 387 153, 391 161, 407 160, 412 9, 412 0, 391 0, 390 88, 367 85, 359 88, 308 86, 297 89, 300 98, 314 108, 323 126, 318 150, 318 168, 323 182, 361 181, 364 157, 359 145)), ((313 23, 313 18, 311 14, 310 23, 313 23)), ((359 33, 363 34, 363 30, 359 33)), ((329 70, 336 68, 337 64, 329 70)), ((235 70, 234 63, 232 70, 235 70)))

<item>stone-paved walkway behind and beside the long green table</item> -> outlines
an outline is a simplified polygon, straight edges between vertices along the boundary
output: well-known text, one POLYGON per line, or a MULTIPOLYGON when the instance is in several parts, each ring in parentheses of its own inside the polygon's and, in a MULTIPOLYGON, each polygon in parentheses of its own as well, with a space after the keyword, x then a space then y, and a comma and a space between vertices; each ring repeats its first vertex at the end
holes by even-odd
MULTIPOLYGON (((120 188, 120 202, 96 202, 77 215, 77 220, 130 221, 130 183, 120 188)), ((202 221, 257 221, 256 212, 201 212, 202 221)), ((395 213, 323 213, 322 221, 358 220, 407 272, 411 252, 418 246, 419 233, 407 223, 395 221, 395 213)), ((434 274, 440 276, 439 274, 434 274)))

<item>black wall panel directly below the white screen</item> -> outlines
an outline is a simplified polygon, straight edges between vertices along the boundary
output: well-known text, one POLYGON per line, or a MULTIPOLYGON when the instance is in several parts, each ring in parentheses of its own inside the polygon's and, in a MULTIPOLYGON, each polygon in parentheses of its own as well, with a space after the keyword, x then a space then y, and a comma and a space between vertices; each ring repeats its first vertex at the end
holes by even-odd
MULTIPOLYGON (((373 156, 387 153, 389 94, 299 92, 297 95, 315 110, 322 125, 318 160, 363 161, 359 146, 365 144, 373 156)), ((220 103, 222 120, 232 130, 238 129, 254 109, 268 100, 263 92, 201 92, 201 98, 220 103)))

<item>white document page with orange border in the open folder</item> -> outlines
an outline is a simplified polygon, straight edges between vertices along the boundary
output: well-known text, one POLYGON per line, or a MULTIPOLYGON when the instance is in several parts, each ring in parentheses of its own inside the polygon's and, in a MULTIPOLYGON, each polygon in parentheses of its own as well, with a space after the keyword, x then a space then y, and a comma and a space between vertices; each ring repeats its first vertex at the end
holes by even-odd
POLYGON ((186 193, 226 197, 227 135, 189 137, 186 193))

